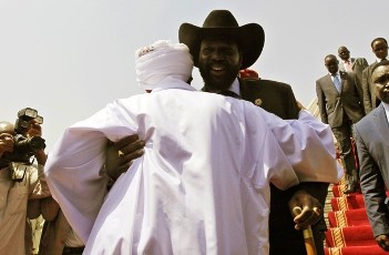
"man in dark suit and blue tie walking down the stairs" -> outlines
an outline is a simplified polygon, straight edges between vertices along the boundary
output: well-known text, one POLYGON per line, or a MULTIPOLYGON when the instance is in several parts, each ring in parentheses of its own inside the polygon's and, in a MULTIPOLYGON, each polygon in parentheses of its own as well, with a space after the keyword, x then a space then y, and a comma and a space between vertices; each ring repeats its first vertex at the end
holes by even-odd
POLYGON ((340 155, 346 170, 345 193, 348 194, 358 188, 358 170, 351 150, 351 126, 365 113, 354 73, 339 72, 339 61, 334 54, 325 58, 325 65, 329 73, 316 81, 316 93, 321 121, 331 126, 340 145, 340 155))

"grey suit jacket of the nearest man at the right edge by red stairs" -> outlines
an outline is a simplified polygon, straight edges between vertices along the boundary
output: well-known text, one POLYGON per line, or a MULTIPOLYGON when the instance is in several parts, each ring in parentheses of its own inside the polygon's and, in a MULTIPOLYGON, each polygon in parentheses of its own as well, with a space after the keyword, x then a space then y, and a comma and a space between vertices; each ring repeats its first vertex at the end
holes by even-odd
POLYGON ((379 105, 355 125, 360 165, 360 186, 375 236, 389 234, 389 212, 385 206, 389 188, 389 124, 379 105))

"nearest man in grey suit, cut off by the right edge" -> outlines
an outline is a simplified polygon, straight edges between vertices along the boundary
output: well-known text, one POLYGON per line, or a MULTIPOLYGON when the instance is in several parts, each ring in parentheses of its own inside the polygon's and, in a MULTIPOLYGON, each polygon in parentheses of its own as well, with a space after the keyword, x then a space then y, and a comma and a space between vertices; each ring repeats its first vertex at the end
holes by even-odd
POLYGON ((355 125, 360 165, 360 186, 372 233, 378 245, 389 252, 389 61, 372 69, 375 94, 381 104, 355 125))

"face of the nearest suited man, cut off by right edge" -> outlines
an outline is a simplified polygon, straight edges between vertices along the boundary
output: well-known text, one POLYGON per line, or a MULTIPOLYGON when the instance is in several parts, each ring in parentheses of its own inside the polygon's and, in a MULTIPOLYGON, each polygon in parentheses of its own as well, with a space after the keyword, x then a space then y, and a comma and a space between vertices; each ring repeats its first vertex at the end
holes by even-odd
POLYGON ((376 86, 377 98, 389 103, 389 64, 376 68, 371 73, 371 81, 376 86))

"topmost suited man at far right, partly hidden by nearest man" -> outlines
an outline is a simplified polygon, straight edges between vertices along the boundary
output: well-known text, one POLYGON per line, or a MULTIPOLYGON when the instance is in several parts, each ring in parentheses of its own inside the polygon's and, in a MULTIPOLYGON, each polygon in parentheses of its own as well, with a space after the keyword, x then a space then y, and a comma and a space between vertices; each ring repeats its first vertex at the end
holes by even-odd
POLYGON ((371 82, 371 70, 377 63, 388 57, 388 42, 385 38, 376 38, 371 41, 371 50, 377 60, 367 67, 362 72, 362 92, 364 92, 364 108, 365 113, 368 114, 372 109, 377 108, 380 103, 375 93, 375 85, 371 82))

